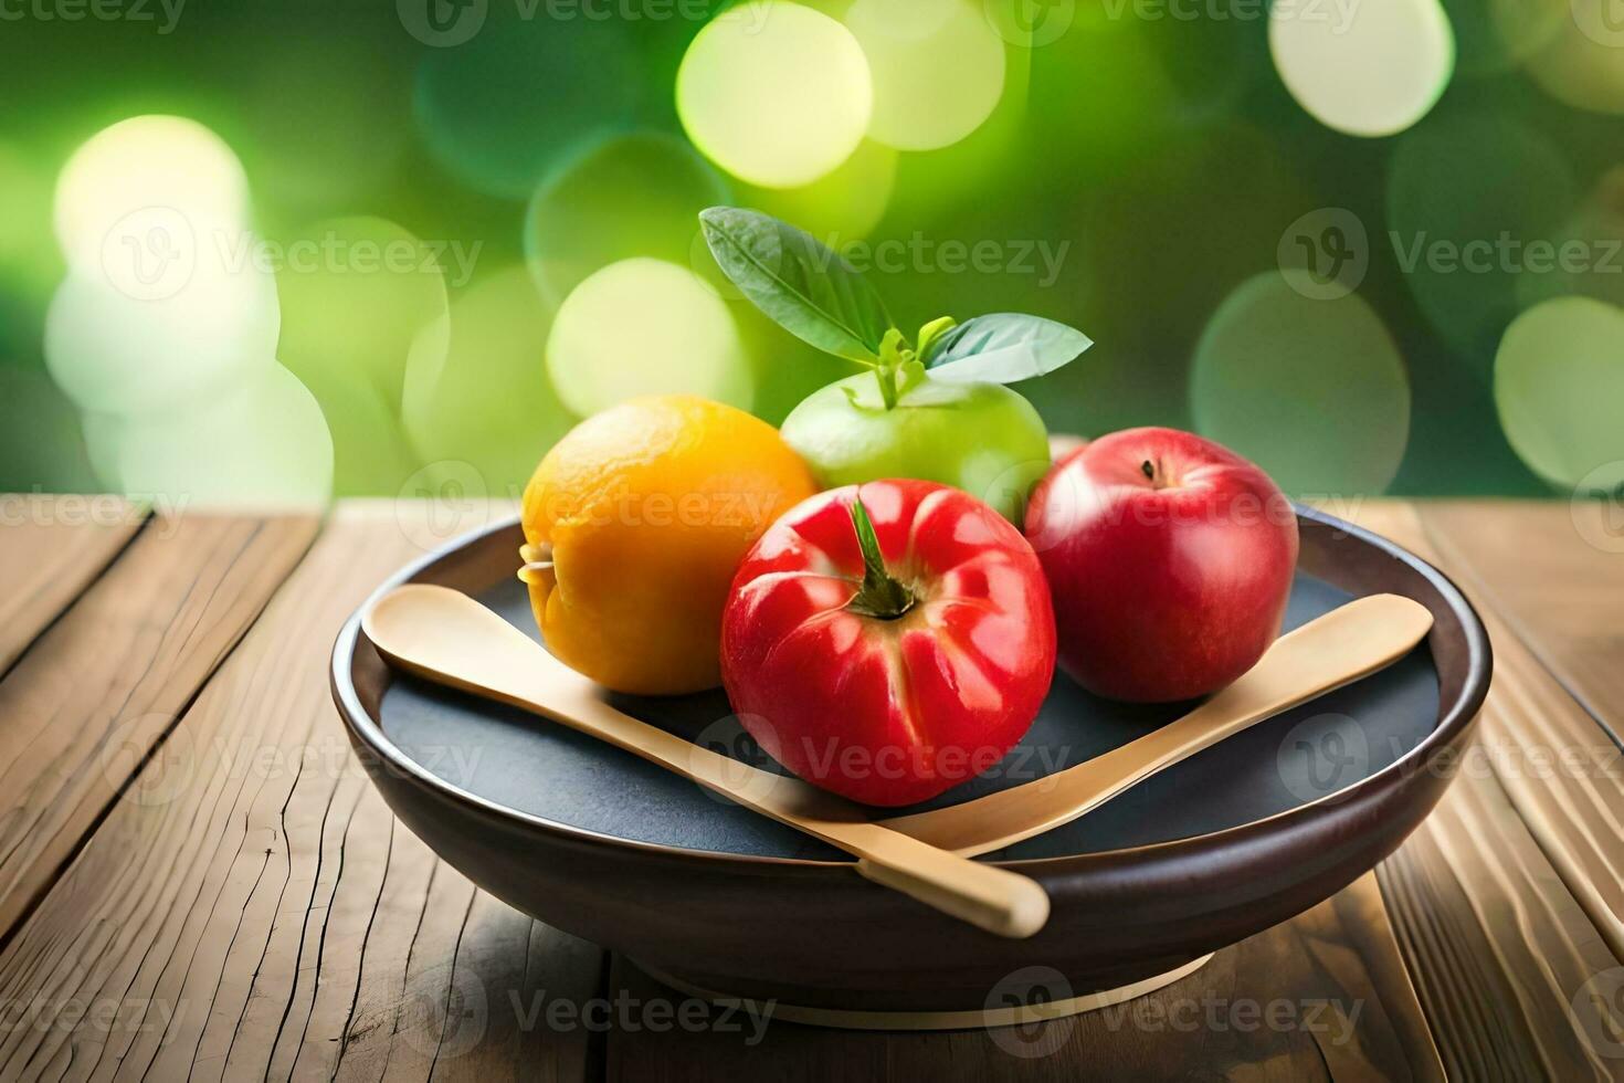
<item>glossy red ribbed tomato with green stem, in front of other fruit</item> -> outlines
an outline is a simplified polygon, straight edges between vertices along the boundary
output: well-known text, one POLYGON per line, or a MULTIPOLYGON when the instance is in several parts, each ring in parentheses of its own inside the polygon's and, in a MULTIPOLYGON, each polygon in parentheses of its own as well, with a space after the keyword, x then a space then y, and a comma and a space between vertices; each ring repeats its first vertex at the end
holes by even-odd
POLYGON ((791 771, 908 805, 986 771, 1031 726, 1054 677, 1049 588, 974 497, 846 485, 791 508, 739 565, 721 675, 791 771))

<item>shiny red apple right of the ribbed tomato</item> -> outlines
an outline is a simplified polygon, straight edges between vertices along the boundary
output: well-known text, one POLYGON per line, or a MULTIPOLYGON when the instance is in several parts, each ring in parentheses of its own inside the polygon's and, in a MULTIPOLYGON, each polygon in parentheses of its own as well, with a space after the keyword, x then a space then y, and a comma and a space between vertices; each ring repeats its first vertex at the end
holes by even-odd
POLYGON ((1268 474, 1177 429, 1125 429, 1059 463, 1026 537, 1060 667, 1112 700, 1215 692, 1280 635, 1298 520, 1268 474))

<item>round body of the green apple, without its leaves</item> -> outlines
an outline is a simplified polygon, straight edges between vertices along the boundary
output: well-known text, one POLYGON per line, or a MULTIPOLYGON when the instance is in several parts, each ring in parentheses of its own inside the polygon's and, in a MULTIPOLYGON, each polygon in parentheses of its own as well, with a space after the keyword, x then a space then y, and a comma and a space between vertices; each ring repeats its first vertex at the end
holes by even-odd
POLYGON ((919 373, 887 408, 875 377, 861 372, 807 396, 781 432, 825 489, 919 477, 963 489, 1017 526, 1031 487, 1049 469, 1043 419, 999 383, 945 383, 919 373))

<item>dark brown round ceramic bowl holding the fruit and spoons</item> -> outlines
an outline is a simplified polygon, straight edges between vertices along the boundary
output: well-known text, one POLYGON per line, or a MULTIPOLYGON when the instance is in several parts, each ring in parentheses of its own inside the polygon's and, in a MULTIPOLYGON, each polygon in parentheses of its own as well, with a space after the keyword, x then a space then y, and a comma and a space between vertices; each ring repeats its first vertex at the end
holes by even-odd
MULTIPOLYGON (((987 861, 1039 880, 1049 924, 1004 940, 880 888, 841 854, 562 726, 391 672, 351 619, 333 698, 404 823, 492 895, 687 984, 815 1008, 974 1010, 1012 971, 1077 995, 1173 971, 1333 895, 1432 809, 1489 685, 1489 641, 1436 568, 1299 508, 1286 623, 1350 596, 1406 594, 1434 617, 1392 667, 1260 723, 1070 825, 987 861)), ((479 596, 534 635, 520 529, 471 534, 398 583, 479 596)), ((624 710, 744 755, 716 693, 624 710)), ((1184 708, 1112 705, 1064 677, 987 778, 929 805, 1030 781, 1184 708)))

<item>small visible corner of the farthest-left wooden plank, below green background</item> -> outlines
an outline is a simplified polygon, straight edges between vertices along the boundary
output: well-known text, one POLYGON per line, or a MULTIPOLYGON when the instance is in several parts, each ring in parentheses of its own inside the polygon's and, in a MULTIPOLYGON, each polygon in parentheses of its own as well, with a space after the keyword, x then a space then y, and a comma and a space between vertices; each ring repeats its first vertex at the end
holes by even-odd
POLYGON ((110 495, 0 495, 0 674, 112 563, 145 518, 110 495))

